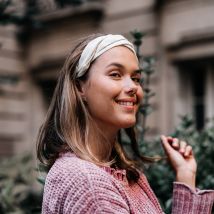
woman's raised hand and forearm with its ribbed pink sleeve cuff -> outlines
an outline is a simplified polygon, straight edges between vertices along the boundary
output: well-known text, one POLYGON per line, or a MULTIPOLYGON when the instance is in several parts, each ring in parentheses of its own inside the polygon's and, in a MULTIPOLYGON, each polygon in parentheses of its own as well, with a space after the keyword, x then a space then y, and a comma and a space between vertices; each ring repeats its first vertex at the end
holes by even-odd
POLYGON ((175 173, 172 214, 209 214, 214 201, 213 190, 195 187, 197 164, 191 146, 176 138, 161 137, 165 153, 175 173))

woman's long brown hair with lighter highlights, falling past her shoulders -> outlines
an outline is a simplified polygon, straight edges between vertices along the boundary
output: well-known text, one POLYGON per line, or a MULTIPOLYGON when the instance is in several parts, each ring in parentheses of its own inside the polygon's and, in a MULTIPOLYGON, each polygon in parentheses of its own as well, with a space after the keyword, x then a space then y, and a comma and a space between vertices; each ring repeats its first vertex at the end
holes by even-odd
MULTIPOLYGON (((101 151, 112 160, 99 160, 90 150, 90 127, 93 123, 87 104, 80 94, 80 81, 86 81, 88 72, 77 79, 75 68, 85 46, 101 34, 90 35, 82 39, 68 55, 60 72, 54 95, 48 109, 44 124, 41 126, 37 140, 37 157, 50 168, 61 152, 71 151, 78 157, 91 161, 97 165, 116 165, 126 169, 129 182, 136 182, 139 178, 137 162, 130 159, 121 145, 120 134, 112 150, 106 145, 98 145, 101 151)), ((125 132, 131 140, 136 157, 143 161, 151 159, 142 157, 138 151, 134 128, 127 128, 125 132)))

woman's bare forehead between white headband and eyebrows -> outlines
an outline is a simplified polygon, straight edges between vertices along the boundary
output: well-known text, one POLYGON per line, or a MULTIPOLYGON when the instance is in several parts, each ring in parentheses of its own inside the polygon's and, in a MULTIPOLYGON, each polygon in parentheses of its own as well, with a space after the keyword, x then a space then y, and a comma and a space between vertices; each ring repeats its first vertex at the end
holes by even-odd
POLYGON ((136 55, 125 46, 117 46, 109 49, 99 56, 93 63, 94 66, 108 66, 112 63, 119 63, 124 66, 138 68, 136 55))

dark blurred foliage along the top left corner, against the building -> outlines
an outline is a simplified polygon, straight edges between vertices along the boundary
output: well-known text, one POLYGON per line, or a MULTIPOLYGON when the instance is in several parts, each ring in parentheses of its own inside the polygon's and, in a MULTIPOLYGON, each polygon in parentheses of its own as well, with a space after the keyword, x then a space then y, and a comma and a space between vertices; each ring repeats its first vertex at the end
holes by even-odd
MULTIPOLYGON (((67 6, 77 7, 89 0, 54 0, 57 9, 67 6)), ((13 24, 18 26, 16 33, 18 41, 26 43, 33 29, 48 28, 47 24, 39 21, 37 15, 42 13, 41 2, 38 0, 20 1, 0 0, 0 25, 13 24), (22 9, 17 7, 22 5, 22 9)), ((49 10, 49 8, 46 8, 49 10)))

